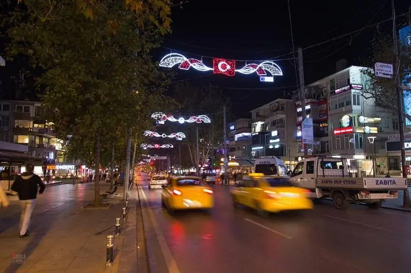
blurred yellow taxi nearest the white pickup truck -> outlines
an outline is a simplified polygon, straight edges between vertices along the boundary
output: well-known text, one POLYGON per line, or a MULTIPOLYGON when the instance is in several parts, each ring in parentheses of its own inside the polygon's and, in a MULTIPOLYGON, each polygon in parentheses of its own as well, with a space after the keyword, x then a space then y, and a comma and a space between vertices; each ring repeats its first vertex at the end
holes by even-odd
POLYGON ((243 177, 231 191, 234 207, 251 207, 261 216, 291 210, 312 210, 307 189, 297 187, 288 177, 252 174, 243 177))

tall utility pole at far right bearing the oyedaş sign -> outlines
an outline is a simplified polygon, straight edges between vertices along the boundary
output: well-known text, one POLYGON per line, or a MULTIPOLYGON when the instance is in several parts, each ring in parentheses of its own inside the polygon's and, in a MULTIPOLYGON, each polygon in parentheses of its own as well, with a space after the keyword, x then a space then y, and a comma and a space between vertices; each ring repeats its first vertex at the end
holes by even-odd
MULTIPOLYGON (((403 113, 403 100, 402 100, 402 90, 399 88, 400 79, 399 79, 399 54, 398 54, 398 41, 395 25, 395 4, 394 0, 391 0, 391 13, 392 13, 392 40, 394 42, 394 55, 395 63, 393 66, 393 71, 395 71, 395 88, 397 96, 397 108, 398 108, 398 124, 399 124, 399 141, 401 143, 401 165, 402 165, 402 177, 407 179, 406 170, 405 170, 405 145, 404 145, 404 113, 403 113)), ((404 190, 404 196, 402 198, 402 207, 409 207, 409 193, 408 187, 404 190)))

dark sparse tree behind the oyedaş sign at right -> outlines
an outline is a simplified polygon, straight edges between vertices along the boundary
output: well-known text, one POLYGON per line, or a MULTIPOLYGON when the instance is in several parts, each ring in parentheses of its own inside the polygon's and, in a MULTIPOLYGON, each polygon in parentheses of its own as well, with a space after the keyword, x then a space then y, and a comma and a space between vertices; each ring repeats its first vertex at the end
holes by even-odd
MULTIPOLYGON (((370 57, 366 61, 366 64, 370 68, 363 69, 362 72, 367 76, 366 88, 364 88, 364 97, 372 98, 375 100, 375 104, 379 107, 392 111, 397 115, 397 95, 395 88, 395 80, 377 77, 374 74, 374 64, 376 62, 382 63, 394 63, 394 50, 392 37, 390 35, 378 34, 371 42, 370 57)), ((400 65, 398 69, 398 76, 400 79, 404 79, 402 85, 409 86, 411 83, 411 53, 409 47, 400 47, 400 65)), ((394 65, 394 67, 397 67, 394 65)), ((403 91, 404 105, 411 103, 411 90, 403 91)), ((407 119, 406 124, 411 124, 411 112, 409 107, 404 107, 404 116, 407 119)))

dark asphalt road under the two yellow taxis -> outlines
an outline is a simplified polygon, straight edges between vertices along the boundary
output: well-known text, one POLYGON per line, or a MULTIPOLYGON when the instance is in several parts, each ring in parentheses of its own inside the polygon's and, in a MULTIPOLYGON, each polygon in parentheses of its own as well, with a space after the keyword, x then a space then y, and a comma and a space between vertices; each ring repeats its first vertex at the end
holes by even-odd
POLYGON ((234 209, 230 186, 214 186, 210 214, 170 216, 161 190, 149 191, 151 255, 159 273, 400 273, 411 267, 411 213, 373 211, 351 205, 347 211, 323 201, 313 211, 260 218, 234 209))

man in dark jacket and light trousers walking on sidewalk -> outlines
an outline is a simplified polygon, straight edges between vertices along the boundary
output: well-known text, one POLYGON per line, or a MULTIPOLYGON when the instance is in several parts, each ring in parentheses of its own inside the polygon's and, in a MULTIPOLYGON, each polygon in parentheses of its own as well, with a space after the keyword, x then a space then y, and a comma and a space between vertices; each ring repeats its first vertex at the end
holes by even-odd
POLYGON ((12 186, 12 191, 19 194, 20 205, 22 207, 22 216, 20 218, 20 237, 29 236, 30 219, 36 205, 37 186, 40 186, 39 193, 42 194, 46 186, 40 176, 33 173, 34 166, 26 165, 26 172, 16 177, 12 186))

